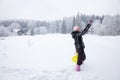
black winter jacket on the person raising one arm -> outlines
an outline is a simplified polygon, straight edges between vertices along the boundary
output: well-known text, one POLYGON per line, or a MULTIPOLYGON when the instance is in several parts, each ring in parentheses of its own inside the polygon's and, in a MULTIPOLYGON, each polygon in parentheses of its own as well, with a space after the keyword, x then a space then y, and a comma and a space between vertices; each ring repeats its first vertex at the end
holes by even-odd
POLYGON ((88 31, 88 29, 90 28, 90 26, 91 26, 91 24, 87 24, 87 26, 85 27, 85 29, 82 32, 73 31, 71 33, 72 38, 75 41, 74 44, 75 44, 75 48, 76 49, 84 49, 85 48, 82 35, 84 35, 88 31))

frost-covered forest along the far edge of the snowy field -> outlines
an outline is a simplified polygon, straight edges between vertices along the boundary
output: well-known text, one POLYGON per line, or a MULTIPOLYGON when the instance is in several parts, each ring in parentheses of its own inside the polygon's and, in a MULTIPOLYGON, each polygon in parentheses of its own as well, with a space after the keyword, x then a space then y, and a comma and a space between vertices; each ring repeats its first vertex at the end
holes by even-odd
POLYGON ((101 36, 120 35, 120 15, 85 15, 64 17, 62 20, 40 21, 40 20, 0 20, 0 37, 39 35, 39 34, 69 34, 74 26, 81 30, 85 28, 89 20, 93 20, 89 34, 101 36))

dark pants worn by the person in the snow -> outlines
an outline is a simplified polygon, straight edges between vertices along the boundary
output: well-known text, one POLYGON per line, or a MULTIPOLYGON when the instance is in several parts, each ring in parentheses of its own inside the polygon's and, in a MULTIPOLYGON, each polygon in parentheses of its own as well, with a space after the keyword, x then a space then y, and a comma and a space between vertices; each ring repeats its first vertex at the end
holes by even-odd
POLYGON ((86 59, 86 55, 85 55, 84 49, 76 49, 76 51, 78 53, 77 65, 81 65, 83 63, 83 61, 86 59))

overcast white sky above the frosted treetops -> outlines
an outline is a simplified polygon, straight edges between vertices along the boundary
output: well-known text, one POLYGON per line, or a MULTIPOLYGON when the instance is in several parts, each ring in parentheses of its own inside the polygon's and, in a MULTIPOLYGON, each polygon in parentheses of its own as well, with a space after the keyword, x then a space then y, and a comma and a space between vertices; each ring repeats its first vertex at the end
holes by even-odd
POLYGON ((82 14, 120 14, 120 0, 0 0, 0 20, 56 20, 82 14))

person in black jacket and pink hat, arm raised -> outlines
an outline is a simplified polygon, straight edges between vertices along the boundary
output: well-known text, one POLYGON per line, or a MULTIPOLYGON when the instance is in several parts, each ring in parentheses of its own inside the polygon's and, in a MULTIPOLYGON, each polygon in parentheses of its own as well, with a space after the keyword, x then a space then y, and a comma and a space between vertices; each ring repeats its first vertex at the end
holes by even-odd
POLYGON ((83 31, 80 30, 80 27, 74 26, 73 31, 71 33, 72 38, 74 39, 76 52, 78 53, 76 71, 80 71, 80 66, 83 63, 83 61, 85 61, 86 59, 86 55, 84 52, 85 45, 83 43, 82 35, 84 35, 89 30, 89 28, 91 27, 91 24, 92 24, 92 20, 88 22, 87 26, 83 31))

